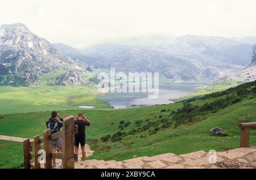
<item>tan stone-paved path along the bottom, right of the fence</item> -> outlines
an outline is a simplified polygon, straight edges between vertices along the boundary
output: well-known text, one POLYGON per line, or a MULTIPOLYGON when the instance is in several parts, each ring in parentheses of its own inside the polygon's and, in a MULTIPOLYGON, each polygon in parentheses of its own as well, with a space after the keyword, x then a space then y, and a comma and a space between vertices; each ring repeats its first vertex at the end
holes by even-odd
POLYGON ((75 168, 256 168, 256 147, 217 152, 216 163, 209 163, 209 152, 197 151, 185 155, 166 153, 152 157, 137 157, 126 161, 86 160, 75 168))

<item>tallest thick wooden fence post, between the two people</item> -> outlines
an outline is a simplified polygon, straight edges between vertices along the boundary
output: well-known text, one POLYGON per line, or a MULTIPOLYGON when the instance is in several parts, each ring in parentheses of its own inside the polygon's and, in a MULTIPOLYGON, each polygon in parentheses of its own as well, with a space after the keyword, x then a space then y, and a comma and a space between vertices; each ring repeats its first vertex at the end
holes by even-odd
POLYGON ((64 169, 75 168, 74 158, 74 123, 75 118, 73 115, 69 115, 63 120, 63 157, 64 157, 64 169))

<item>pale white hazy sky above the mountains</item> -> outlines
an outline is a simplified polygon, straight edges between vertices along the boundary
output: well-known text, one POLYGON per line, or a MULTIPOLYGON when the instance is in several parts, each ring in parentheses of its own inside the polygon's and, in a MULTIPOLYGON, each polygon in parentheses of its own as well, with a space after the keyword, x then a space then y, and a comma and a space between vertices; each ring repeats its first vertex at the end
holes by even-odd
POLYGON ((256 35, 255 0, 0 0, 0 24, 24 23, 50 42, 85 46, 154 33, 256 35))

